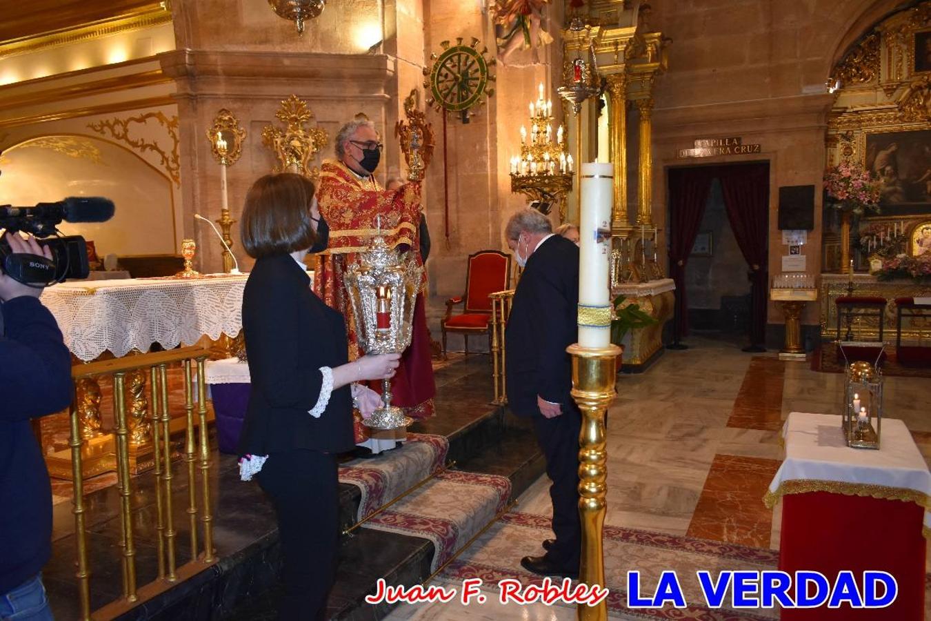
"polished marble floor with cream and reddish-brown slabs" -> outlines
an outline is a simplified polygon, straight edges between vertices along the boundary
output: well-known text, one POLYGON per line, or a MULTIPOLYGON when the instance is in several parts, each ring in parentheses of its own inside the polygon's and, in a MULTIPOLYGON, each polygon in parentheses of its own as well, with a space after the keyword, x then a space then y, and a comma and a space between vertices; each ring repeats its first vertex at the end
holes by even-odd
MULTIPOLYGON (((608 412, 606 524, 777 549, 780 505, 766 509, 762 496, 781 459, 778 430, 789 412, 837 412, 843 375, 782 362, 775 353, 747 354, 726 340, 693 337, 688 344, 646 373, 619 377, 608 412)), ((931 464, 931 380, 886 377, 884 390, 886 415, 905 421, 931 464)), ((547 488, 548 479, 538 479, 514 510, 550 515, 547 488)), ((555 621, 575 613, 490 598, 406 604, 388 618, 555 621)))

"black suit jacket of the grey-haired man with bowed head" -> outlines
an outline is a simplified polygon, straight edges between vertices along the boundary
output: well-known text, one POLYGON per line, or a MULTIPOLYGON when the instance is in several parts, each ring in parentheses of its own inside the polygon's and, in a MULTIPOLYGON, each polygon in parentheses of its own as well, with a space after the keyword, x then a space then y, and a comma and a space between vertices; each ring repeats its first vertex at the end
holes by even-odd
POLYGON ((571 405, 577 340, 579 249, 565 237, 546 239, 527 260, 505 331, 507 401, 519 416, 540 413, 536 397, 571 405))

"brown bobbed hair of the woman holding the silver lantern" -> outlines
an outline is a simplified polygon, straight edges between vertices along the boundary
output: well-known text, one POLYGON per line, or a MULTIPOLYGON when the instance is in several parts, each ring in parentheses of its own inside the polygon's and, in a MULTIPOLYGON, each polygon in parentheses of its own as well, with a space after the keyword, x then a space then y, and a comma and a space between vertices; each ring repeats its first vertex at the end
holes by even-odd
POLYGON ((252 183, 242 211, 242 247, 253 259, 307 250, 317 241, 310 206, 316 188, 302 175, 282 172, 252 183))

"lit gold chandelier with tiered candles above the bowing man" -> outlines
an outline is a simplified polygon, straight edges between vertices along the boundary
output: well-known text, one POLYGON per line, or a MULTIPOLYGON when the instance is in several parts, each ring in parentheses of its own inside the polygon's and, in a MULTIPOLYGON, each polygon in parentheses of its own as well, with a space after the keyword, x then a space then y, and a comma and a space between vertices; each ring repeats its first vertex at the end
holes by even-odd
POLYGON ((510 160, 511 192, 536 201, 537 209, 548 213, 557 206, 565 220, 565 196, 573 189, 573 156, 566 148, 560 125, 553 131, 553 102, 544 98, 540 84, 537 101, 530 104, 530 132, 520 128, 520 155, 510 160))

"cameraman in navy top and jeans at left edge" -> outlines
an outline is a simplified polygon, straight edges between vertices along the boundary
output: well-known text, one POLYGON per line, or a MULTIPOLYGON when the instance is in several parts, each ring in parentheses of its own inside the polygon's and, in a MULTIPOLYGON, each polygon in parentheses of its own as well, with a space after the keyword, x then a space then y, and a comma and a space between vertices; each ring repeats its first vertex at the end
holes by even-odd
MULTIPOLYGON (((34 237, 6 234, 14 253, 51 259, 34 237)), ((41 287, 0 263, 0 619, 52 619, 40 571, 51 557, 51 483, 29 420, 72 398, 71 355, 41 287)))

